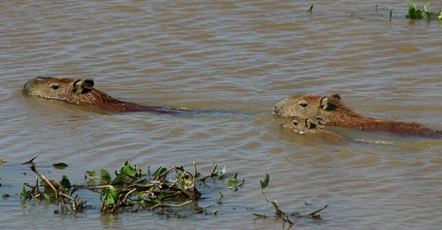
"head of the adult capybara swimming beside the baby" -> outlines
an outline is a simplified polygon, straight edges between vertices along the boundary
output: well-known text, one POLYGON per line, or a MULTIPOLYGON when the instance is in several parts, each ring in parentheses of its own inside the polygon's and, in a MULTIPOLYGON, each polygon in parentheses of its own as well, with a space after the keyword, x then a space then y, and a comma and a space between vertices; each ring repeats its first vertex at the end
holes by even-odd
POLYGON ((339 94, 333 94, 329 97, 305 95, 281 99, 275 104, 273 113, 283 117, 299 116, 314 118, 321 116, 324 120, 327 120, 330 113, 338 110, 353 114, 349 107, 342 103, 339 94))

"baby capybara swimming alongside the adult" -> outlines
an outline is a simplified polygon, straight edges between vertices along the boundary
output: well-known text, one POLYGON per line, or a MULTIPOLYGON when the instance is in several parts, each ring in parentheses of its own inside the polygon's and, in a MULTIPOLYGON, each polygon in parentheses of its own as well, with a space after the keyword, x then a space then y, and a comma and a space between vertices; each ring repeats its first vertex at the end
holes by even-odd
POLYGON ((321 123, 322 120, 319 116, 316 116, 314 119, 290 116, 288 118, 283 118, 281 121, 281 127, 289 129, 294 133, 307 135, 312 138, 324 138, 334 141, 345 140, 344 137, 339 136, 333 131, 324 129, 324 126, 321 125, 321 123))

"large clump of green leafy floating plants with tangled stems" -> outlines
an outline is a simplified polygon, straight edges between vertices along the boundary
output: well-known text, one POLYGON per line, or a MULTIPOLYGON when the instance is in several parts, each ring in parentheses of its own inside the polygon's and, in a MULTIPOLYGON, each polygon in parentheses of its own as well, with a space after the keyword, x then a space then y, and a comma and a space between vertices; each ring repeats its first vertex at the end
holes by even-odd
MULTIPOLYGON (((115 170, 115 177, 104 168, 95 170, 87 170, 84 178, 87 179, 85 185, 73 186, 66 175, 57 183, 54 180, 47 179, 43 173, 36 170, 33 160, 25 164, 32 164, 30 167, 32 172, 36 173, 36 183, 32 185, 25 183, 21 196, 23 201, 30 199, 45 199, 48 203, 55 202, 61 204, 61 210, 56 213, 65 214, 67 212, 82 212, 88 208, 86 201, 80 200, 77 195, 78 190, 90 190, 100 195, 100 211, 103 213, 115 213, 133 210, 151 210, 158 214, 168 214, 176 216, 186 216, 205 212, 204 208, 198 207, 196 202, 201 197, 201 193, 197 187, 204 183, 205 179, 224 179, 226 175, 226 166, 220 171, 216 171, 218 164, 212 162, 213 168, 209 175, 202 177, 196 169, 194 162, 194 174, 185 170, 183 166, 165 168, 159 166, 154 172, 150 173, 150 166, 144 172, 139 166, 131 166, 130 160, 124 162, 120 170, 115 170), (170 178, 174 175, 174 179, 170 178), (167 179, 169 178, 169 179, 167 179), (38 183, 38 180, 43 183, 38 183), (43 186, 43 190, 41 187, 43 186), (27 189, 28 188, 28 189, 27 189), (187 210, 180 212, 176 208, 187 210)), ((65 166, 66 164, 62 164, 65 166)), ((55 166, 55 164, 54 164, 55 166)), ((67 166, 67 165, 66 165, 67 166)), ((244 184, 237 179, 237 174, 230 179, 225 179, 225 183, 229 185, 227 189, 237 191, 244 184)), ((220 199, 222 199, 220 192, 220 199)), ((216 215, 217 210, 209 212, 216 215)))

